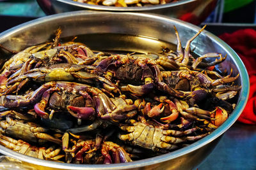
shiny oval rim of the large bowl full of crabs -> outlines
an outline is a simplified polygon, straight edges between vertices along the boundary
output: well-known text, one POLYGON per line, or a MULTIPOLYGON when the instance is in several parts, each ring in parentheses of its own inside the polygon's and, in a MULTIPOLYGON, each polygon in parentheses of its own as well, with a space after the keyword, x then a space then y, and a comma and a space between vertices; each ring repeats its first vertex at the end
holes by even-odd
MULTIPOLYGON (((154 20, 164 20, 165 22, 169 22, 172 24, 182 25, 183 27, 189 28, 195 32, 199 31, 200 29, 200 27, 196 25, 189 24, 187 22, 178 20, 176 18, 165 17, 163 15, 152 15, 152 14, 146 14, 146 13, 115 13, 115 12, 106 12, 106 11, 97 11, 92 13, 88 13, 86 11, 71 11, 67 13, 60 13, 60 14, 50 15, 47 17, 38 18, 32 21, 26 22, 24 24, 17 25, 12 29, 2 32, 0 34, 0 39, 7 38, 8 36, 10 36, 10 34, 22 31, 22 29, 33 27, 37 24, 42 24, 44 22, 49 22, 51 20, 59 20, 61 18, 68 18, 68 17, 75 17, 75 16, 81 17, 83 15, 104 15, 106 13, 111 16, 112 15, 134 15, 135 17, 146 17, 150 19, 154 18, 154 20)), ((41 159, 36 159, 34 157, 23 155, 21 153, 5 148, 4 146, 1 146, 1 145, 0 145, 0 152, 3 153, 4 155, 14 157, 24 162, 29 162, 29 163, 40 165, 40 166, 61 168, 61 169, 129 169, 129 168, 132 169, 135 167, 149 166, 152 164, 164 162, 166 160, 175 159, 187 153, 193 152, 198 148, 201 148, 202 146, 207 145, 214 139, 221 136, 221 134, 223 134, 225 131, 227 131, 227 129, 230 128, 231 125, 234 124, 234 122, 236 122, 239 115, 241 115, 246 105, 246 102, 248 100, 250 81, 249 81, 248 73, 246 71, 246 67, 244 66, 242 60, 239 58, 237 53, 234 52, 234 50, 232 50, 232 48, 230 48, 230 46, 227 45, 227 43, 222 41, 217 36, 214 36, 214 34, 211 34, 211 32, 203 31, 201 34, 205 34, 205 36, 208 36, 209 38, 211 38, 215 43, 217 43, 222 48, 224 48, 228 52, 228 55, 232 56, 232 59, 234 59, 234 61, 236 62, 236 66, 238 66, 239 73, 241 76, 241 85, 242 85, 239 101, 237 103, 235 110, 232 112, 232 115, 230 115, 230 117, 224 122, 224 124, 222 124, 220 127, 218 127, 218 129, 216 129, 214 132, 212 132, 208 136, 205 136, 204 138, 196 141, 195 143, 189 146, 186 146, 184 148, 181 148, 179 150, 176 150, 170 153, 166 153, 164 155, 159 155, 157 157, 153 157, 150 159, 136 160, 134 162, 128 162, 128 163, 122 163, 122 164, 86 165, 86 164, 67 164, 67 163, 61 163, 61 162, 54 162, 50 160, 41 160, 41 159)))

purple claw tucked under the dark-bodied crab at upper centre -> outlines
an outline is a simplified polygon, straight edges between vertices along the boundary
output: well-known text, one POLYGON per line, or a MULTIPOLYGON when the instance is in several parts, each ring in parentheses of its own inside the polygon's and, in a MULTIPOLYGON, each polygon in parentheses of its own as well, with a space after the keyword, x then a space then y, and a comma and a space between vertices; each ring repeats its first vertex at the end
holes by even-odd
POLYGON ((147 94, 154 89, 154 83, 148 83, 145 85, 127 85, 127 89, 137 95, 147 94))

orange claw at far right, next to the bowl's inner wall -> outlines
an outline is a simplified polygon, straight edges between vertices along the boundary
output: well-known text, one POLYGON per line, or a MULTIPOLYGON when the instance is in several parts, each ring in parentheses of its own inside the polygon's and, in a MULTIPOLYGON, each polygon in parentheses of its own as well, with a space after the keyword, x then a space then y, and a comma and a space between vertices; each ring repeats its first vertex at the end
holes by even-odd
POLYGON ((216 107, 216 110, 214 111, 214 113, 212 113, 211 117, 215 118, 212 121, 212 124, 219 127, 220 125, 223 124, 223 122, 225 122, 225 120, 227 120, 228 113, 226 110, 218 106, 216 107))

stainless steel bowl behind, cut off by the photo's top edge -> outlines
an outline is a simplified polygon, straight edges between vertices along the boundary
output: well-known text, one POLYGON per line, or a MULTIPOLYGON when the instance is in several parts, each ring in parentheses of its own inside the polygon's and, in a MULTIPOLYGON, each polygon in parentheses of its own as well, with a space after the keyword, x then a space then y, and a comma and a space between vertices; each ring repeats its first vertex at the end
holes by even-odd
POLYGON ((47 15, 77 10, 97 10, 115 12, 143 12, 179 18, 198 25, 214 10, 218 0, 180 0, 175 3, 159 4, 143 7, 115 7, 77 3, 72 0, 37 0, 47 15))

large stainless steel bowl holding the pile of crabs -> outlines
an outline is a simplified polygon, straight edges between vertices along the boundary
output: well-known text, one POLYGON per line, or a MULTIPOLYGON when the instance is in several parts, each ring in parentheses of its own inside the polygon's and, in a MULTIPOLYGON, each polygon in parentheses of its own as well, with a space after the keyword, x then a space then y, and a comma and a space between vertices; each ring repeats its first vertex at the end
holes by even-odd
MULTIPOLYGON (((186 41, 200 29, 195 25, 159 15, 75 11, 38 18, 13 27, 0 34, 0 44, 12 50, 21 50, 26 46, 49 40, 51 34, 60 27, 63 30, 62 38, 78 35, 79 41, 83 41, 93 50, 156 52, 161 50, 161 45, 175 48, 172 45, 177 43, 173 25, 179 31, 182 46, 185 46, 186 41)), ((195 48, 194 52, 198 55, 208 52, 227 54, 227 59, 218 66, 218 69, 224 71, 232 68, 234 75, 240 73, 237 84, 242 85, 235 110, 223 125, 205 138, 171 153, 150 159, 111 165, 65 164, 40 160, 13 152, 4 146, 0 146, 0 152, 29 162, 34 166, 60 169, 192 169, 211 153, 221 134, 234 124, 243 111, 248 99, 249 79, 246 68, 237 54, 230 46, 210 32, 203 31, 191 43, 191 48, 195 48)), ((6 55, 10 54, 0 52, 1 59, 6 55)))

